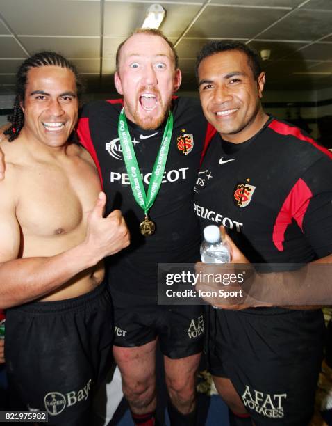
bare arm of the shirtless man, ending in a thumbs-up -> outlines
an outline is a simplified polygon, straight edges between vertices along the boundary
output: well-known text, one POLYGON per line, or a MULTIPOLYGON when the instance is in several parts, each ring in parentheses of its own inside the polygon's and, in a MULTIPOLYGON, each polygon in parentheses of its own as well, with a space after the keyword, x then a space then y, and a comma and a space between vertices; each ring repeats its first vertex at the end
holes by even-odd
POLYGON ((21 232, 15 216, 15 203, 5 182, 1 183, 0 308, 38 299, 102 258, 128 246, 128 230, 121 213, 117 210, 106 218, 102 217, 105 202, 105 194, 99 194, 81 244, 51 257, 17 259, 21 232))

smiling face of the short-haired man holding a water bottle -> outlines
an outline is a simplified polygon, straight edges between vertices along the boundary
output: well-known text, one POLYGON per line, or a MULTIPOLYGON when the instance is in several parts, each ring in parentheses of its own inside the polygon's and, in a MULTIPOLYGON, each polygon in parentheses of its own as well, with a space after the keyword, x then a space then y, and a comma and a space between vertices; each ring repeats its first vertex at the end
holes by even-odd
POLYGON ((207 56, 198 74, 204 115, 225 141, 247 141, 263 127, 267 115, 260 98, 265 74, 254 79, 244 52, 227 50, 207 56))

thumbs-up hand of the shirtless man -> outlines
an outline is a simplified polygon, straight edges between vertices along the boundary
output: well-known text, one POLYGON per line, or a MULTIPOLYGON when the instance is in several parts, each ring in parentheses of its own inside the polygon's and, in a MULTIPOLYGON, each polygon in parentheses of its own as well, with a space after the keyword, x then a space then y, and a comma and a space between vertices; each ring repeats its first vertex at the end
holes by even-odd
POLYGON ((91 255, 97 258, 97 262, 128 247, 130 243, 129 231, 122 213, 120 210, 113 210, 104 218, 105 205, 106 195, 99 192, 94 208, 88 216, 88 228, 85 237, 91 255))

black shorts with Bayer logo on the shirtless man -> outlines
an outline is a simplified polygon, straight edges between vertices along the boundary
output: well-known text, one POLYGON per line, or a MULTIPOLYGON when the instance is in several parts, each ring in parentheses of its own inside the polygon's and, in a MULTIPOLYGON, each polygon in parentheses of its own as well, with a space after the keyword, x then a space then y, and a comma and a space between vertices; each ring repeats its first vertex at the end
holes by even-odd
POLYGON ((74 299, 8 309, 10 408, 48 411, 49 425, 91 426, 93 393, 110 368, 112 343, 105 283, 74 299))

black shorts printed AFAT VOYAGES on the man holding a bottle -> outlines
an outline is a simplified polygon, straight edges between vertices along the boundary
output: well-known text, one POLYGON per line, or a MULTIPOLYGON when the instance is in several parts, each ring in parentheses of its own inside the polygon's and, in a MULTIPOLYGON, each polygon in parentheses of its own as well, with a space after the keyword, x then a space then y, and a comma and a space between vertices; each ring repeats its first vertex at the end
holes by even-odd
POLYGON ((256 426, 307 426, 322 363, 321 310, 208 307, 210 372, 231 379, 256 426))

